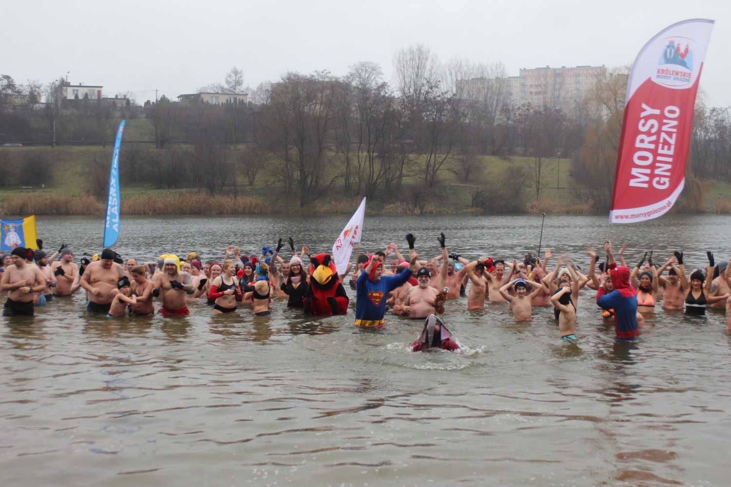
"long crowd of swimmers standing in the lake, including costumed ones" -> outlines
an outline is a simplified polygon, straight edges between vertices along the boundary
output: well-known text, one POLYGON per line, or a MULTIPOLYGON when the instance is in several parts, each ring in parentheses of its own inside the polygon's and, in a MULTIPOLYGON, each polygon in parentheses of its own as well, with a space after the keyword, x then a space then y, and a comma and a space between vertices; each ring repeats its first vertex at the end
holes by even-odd
POLYGON ((680 251, 658 263, 652 251, 645 252, 630 268, 625 246, 615 258, 613 246, 605 242, 604 261, 586 249, 591 262, 585 275, 568 255, 557 256, 551 264, 551 250, 542 258, 528 253, 522 261, 470 261, 447 250, 443 233, 437 240, 442 252, 433 258, 421 258, 416 237, 407 234, 408 256, 392 242, 384 250, 357 256, 355 266, 347 264, 341 270, 327 253, 311 254, 306 246, 298 252, 291 237, 288 259, 280 255, 284 242, 279 239, 274 248, 264 246, 252 255, 230 246, 221 261, 204 261, 191 252, 183 259, 163 254, 157 261, 138 263, 105 248, 99 256, 84 253, 79 264, 67 245, 49 256, 39 240, 39 250, 16 247, 2 256, 1 289, 7 291, 3 316, 33 315, 34 307, 71 296, 79 288, 86 293, 88 312, 109 318, 156 312, 183 316, 189 314, 189 305, 198 303, 210 305, 215 314, 246 307, 253 315, 266 316, 272 299, 286 299, 287 307, 302 308, 309 315, 345 315, 346 283, 356 294, 356 326, 385 326, 386 312, 424 320, 412 350, 457 350, 458 341, 438 316, 450 299, 466 296, 469 310, 482 309, 488 301, 507 302, 515 321, 530 321, 533 307, 552 305, 559 337, 573 342, 579 291, 587 287, 596 291, 602 319, 615 323, 618 340, 634 340, 659 305, 694 316, 705 315, 706 307, 725 308, 731 329, 729 261, 716 265, 711 252, 708 266, 688 275, 680 251))

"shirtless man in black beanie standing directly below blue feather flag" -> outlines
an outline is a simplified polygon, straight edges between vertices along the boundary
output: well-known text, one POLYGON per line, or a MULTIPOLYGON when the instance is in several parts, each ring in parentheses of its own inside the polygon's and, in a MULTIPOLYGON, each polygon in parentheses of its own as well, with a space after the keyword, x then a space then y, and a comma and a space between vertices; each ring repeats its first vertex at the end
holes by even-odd
POLYGON ((124 275, 121 264, 114 261, 114 250, 105 248, 98 261, 86 266, 80 285, 86 289, 86 310, 109 314, 112 299, 119 292, 117 282, 124 275))

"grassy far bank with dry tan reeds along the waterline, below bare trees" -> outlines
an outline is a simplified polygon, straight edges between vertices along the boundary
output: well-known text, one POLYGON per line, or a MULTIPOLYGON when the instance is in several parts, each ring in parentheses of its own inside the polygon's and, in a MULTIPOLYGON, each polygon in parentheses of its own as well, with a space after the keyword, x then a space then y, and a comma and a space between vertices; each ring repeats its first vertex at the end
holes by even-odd
MULTIPOLYGON (((104 214, 105 202, 90 195, 86 180, 95 161, 110 159, 111 147, 13 147, 0 152, 5 154, 0 161, 4 160, 11 168, 24 154, 42 153, 48 161, 40 169, 47 176, 42 188, 34 186, 32 192, 21 191, 18 180, 12 176, 6 178, 4 187, 0 188, 0 215, 104 214)), ((428 190, 428 196, 420 190, 419 177, 406 177, 397 197, 390 202, 369 200, 368 212, 389 215, 482 213, 484 208, 474 204, 476 195, 480 191, 488 195, 495 193, 496 182, 504 180, 501 178, 507 169, 521 166, 529 170, 531 163, 531 158, 484 157, 480 160, 480 168, 466 183, 454 172, 443 170, 439 183, 428 190)), ((577 198, 577 185, 569 177, 571 162, 562 159, 560 173, 558 169, 555 159, 544 162, 538 201, 531 180, 519 191, 520 195, 511 193, 500 197, 523 199, 527 212, 591 214, 591 204, 577 198)), ((243 176, 239 178, 242 180, 243 176)), ((273 176, 262 172, 257 176, 256 185, 238 186, 236 196, 233 196, 232 188, 227 188, 227 194, 210 195, 198 189, 156 190, 145 184, 130 185, 124 183, 123 177, 121 212, 124 215, 347 214, 352 213, 361 198, 329 191, 327 196, 300 208, 295 198, 284 197, 274 184, 273 176)), ((703 182, 703 188, 705 212, 731 213, 731 184, 708 180, 703 182)))

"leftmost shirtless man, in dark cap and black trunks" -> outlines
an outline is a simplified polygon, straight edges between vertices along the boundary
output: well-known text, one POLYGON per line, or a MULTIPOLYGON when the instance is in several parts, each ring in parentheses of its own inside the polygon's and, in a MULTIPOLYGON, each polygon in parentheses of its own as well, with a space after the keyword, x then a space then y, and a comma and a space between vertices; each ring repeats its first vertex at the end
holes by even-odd
POLYGON ((9 291, 3 316, 33 316, 33 294, 45 288, 45 275, 37 266, 26 263, 27 253, 23 247, 12 249, 12 265, 2 273, 0 288, 9 291))

